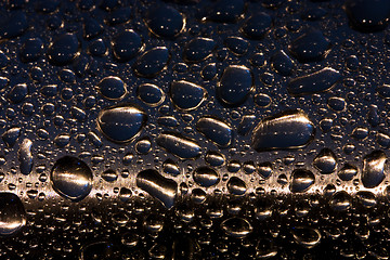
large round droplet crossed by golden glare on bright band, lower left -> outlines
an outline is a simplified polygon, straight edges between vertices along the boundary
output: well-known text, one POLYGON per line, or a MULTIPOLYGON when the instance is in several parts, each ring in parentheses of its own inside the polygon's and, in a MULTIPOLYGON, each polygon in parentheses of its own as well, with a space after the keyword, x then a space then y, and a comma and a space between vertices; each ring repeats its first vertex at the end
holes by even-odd
POLYGON ((56 160, 50 174, 54 191, 74 202, 88 196, 92 188, 92 178, 88 165, 72 156, 56 160))

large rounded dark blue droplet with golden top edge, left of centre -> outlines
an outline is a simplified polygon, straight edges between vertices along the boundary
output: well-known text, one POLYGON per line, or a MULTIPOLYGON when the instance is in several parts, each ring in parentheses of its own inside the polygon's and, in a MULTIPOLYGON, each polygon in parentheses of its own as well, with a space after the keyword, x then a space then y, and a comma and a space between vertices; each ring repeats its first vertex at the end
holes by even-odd
POLYGON ((105 108, 99 113, 98 126, 114 142, 131 141, 144 126, 146 115, 133 106, 105 108))

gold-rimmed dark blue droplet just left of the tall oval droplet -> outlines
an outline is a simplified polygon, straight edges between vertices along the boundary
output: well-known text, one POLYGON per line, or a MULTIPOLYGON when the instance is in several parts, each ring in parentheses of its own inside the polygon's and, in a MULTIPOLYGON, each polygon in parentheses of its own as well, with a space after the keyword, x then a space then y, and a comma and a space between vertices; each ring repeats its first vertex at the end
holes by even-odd
POLYGON ((196 109, 205 101, 207 94, 203 87, 185 80, 173 81, 169 93, 172 103, 182 110, 196 109))

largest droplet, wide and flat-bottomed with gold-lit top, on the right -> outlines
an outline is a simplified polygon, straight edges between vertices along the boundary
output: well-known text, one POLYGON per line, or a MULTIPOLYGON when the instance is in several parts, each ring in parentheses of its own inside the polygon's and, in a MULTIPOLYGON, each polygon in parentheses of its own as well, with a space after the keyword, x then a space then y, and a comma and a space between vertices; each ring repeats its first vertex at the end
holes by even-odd
POLYGON ((300 148, 313 140, 314 133, 313 122, 302 110, 286 110, 255 128, 251 146, 258 152, 300 148))

